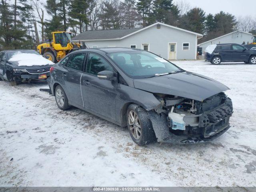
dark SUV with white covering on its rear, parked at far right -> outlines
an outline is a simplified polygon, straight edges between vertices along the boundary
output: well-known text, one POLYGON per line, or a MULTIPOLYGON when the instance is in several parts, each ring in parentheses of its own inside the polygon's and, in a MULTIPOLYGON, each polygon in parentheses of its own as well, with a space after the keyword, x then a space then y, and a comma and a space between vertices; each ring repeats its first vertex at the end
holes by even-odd
POLYGON ((256 50, 239 44, 217 44, 212 53, 204 54, 205 60, 218 65, 221 62, 245 62, 256 64, 256 50))

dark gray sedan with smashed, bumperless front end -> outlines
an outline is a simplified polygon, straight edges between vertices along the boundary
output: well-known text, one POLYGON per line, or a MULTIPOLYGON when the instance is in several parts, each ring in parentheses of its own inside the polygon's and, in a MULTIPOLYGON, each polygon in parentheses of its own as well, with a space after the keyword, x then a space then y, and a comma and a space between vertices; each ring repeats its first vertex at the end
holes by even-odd
POLYGON ((51 68, 48 84, 60 109, 128 126, 138 145, 210 141, 230 128, 228 87, 144 50, 72 52, 51 68))

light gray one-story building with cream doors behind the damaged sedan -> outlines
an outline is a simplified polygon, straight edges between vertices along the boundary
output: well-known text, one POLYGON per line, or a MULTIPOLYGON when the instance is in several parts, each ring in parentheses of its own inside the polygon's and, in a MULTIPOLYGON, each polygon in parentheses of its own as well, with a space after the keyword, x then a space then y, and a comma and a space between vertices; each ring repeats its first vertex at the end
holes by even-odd
POLYGON ((129 47, 148 50, 168 60, 193 60, 202 34, 157 22, 145 28, 86 31, 72 40, 88 48, 129 47))

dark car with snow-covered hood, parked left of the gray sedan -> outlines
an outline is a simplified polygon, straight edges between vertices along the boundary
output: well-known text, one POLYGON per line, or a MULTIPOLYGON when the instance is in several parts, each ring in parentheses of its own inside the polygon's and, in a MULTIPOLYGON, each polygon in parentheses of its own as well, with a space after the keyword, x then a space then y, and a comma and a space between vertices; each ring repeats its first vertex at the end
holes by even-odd
POLYGON ((12 84, 46 80, 53 64, 35 50, 5 50, 0 52, 0 80, 12 84))

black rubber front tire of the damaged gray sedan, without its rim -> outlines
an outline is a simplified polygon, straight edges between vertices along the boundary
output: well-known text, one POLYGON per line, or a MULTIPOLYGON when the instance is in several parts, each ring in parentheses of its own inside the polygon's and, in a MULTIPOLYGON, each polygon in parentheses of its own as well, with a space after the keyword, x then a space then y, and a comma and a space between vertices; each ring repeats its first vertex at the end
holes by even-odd
POLYGON ((154 133, 152 124, 150 120, 147 118, 148 113, 146 110, 136 104, 131 104, 128 106, 127 112, 126 112, 126 121, 127 121, 127 126, 128 130, 130 133, 130 136, 132 137, 132 140, 142 146, 145 144, 149 144, 150 142, 153 142, 156 140, 156 135, 154 133), (129 125, 129 113, 130 112, 135 112, 136 115, 138 116, 138 121, 139 121, 139 126, 140 126, 140 137, 137 139, 135 138, 133 131, 135 132, 135 128, 132 129, 132 126, 129 125))

